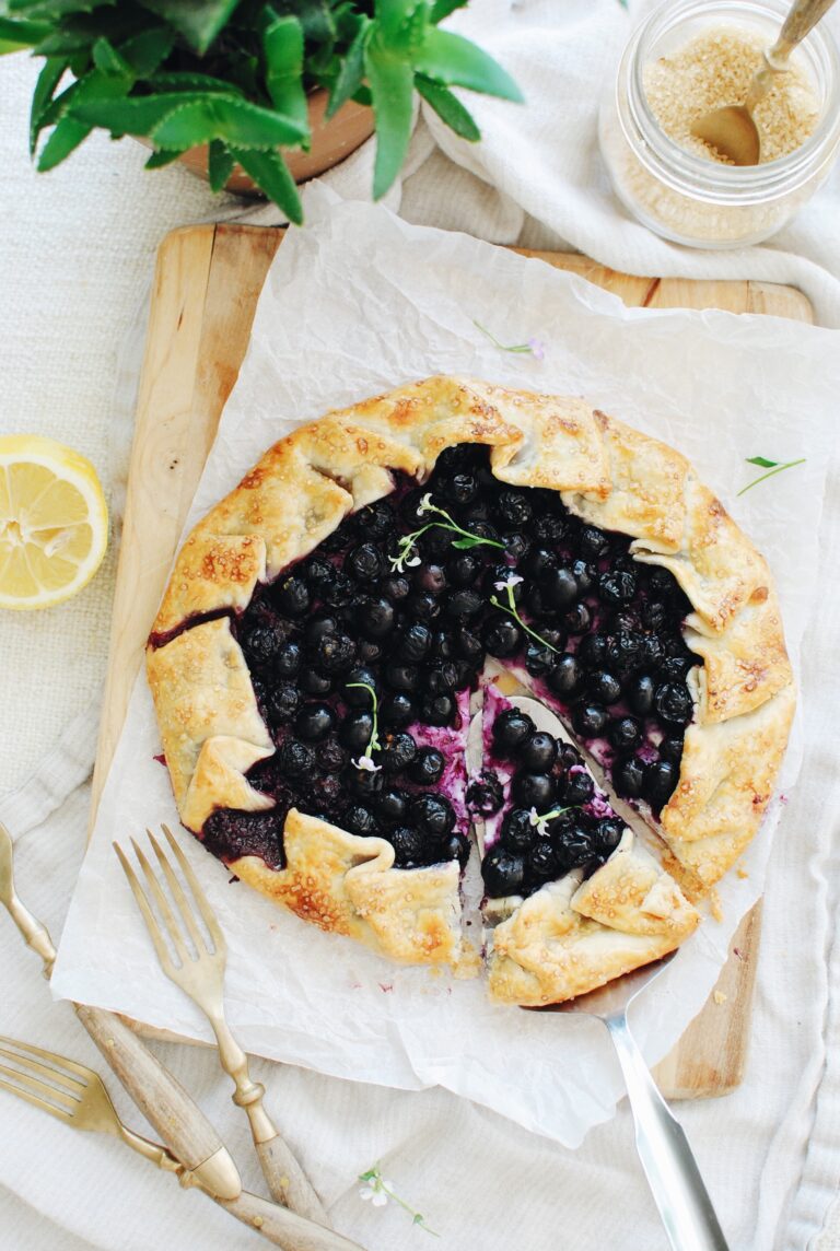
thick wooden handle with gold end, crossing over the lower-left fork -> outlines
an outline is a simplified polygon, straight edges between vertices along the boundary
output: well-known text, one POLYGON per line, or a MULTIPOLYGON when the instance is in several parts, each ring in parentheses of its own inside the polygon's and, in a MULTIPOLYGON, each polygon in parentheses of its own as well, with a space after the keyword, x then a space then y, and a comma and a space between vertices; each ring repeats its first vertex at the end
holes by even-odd
POLYGON ((198 1105, 114 1012, 74 1005, 76 1016, 136 1106, 213 1197, 234 1200, 239 1172, 198 1105))

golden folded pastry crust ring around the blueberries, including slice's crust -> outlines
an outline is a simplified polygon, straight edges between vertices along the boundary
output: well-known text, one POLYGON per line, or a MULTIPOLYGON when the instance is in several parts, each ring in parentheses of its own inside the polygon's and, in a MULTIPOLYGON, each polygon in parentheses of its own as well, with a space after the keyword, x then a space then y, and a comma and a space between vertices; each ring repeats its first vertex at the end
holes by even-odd
MULTIPOLYGON (((247 777, 275 748, 232 615, 351 512, 388 495, 392 469, 423 482, 446 448, 463 443, 488 445, 499 482, 558 492, 587 523, 630 535, 636 562, 668 569, 692 608, 686 643, 704 662, 689 676, 695 714, 656 823, 662 866, 627 831, 587 881, 573 871, 541 887, 494 931, 493 997, 546 1003, 656 960, 694 931, 690 899, 756 833, 787 742, 795 688, 770 572, 685 457, 581 399, 461 378, 328 413, 270 448, 193 529, 146 669, 184 826, 200 836, 218 808, 270 808, 247 777)), ((283 839, 284 868, 257 856, 227 863, 325 931, 398 961, 476 971, 456 861, 394 868, 387 839, 295 808, 283 839)))

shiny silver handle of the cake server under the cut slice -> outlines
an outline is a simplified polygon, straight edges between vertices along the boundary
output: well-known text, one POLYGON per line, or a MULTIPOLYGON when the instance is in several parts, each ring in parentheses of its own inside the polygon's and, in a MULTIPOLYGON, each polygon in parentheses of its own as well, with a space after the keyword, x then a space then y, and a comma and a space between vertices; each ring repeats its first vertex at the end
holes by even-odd
POLYGON ((621 1061, 638 1157, 674 1251, 727 1251, 689 1140, 656 1088, 627 1017, 603 1020, 621 1061))

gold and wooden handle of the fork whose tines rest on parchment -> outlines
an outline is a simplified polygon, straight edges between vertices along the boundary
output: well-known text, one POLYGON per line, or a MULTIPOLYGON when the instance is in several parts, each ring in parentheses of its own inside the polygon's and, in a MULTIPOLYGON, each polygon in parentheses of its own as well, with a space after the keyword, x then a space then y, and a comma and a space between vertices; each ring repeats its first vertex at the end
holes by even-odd
POLYGON ((265 1087, 260 1082, 252 1081, 248 1056, 230 1033, 220 1011, 209 1013, 209 1018, 219 1045, 222 1067, 237 1087, 233 1102, 244 1107, 248 1113, 259 1166, 273 1197, 284 1207, 290 1207, 293 1212, 320 1225, 328 1225, 329 1218, 312 1182, 263 1107, 265 1087))

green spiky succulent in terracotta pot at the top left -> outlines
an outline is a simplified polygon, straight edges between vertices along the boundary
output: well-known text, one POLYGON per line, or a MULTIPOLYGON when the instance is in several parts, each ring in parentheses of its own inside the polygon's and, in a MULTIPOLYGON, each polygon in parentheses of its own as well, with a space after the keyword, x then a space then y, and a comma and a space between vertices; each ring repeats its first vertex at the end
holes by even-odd
POLYGON ((473 141, 478 128, 451 88, 522 99, 491 56, 439 29, 466 3, 0 0, 0 50, 44 58, 30 121, 40 170, 103 128, 149 144, 146 168, 204 166, 214 190, 252 180, 299 223, 294 176, 374 129, 373 195, 384 195, 408 149, 414 90, 473 141))

